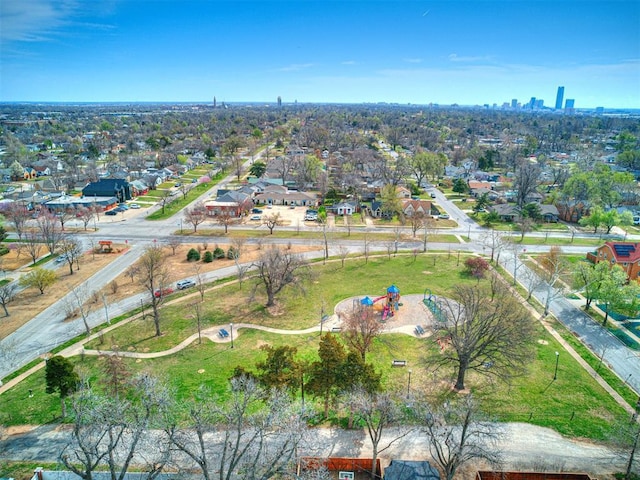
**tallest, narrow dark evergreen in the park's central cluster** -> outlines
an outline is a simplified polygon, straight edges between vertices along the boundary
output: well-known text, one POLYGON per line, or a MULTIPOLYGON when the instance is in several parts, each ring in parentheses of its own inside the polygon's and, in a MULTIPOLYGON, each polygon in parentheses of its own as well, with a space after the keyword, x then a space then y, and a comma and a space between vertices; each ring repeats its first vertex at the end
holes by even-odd
POLYGON ((342 387, 343 377, 339 372, 344 367, 347 354, 336 336, 326 333, 320 339, 318 356, 320 359, 311 364, 310 380, 306 387, 315 397, 323 400, 324 416, 327 418, 329 404, 342 387))

